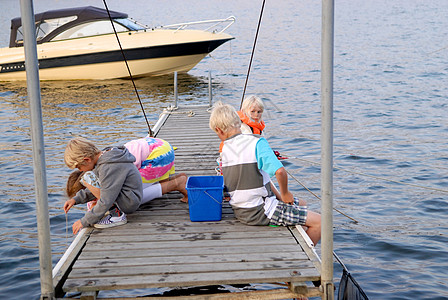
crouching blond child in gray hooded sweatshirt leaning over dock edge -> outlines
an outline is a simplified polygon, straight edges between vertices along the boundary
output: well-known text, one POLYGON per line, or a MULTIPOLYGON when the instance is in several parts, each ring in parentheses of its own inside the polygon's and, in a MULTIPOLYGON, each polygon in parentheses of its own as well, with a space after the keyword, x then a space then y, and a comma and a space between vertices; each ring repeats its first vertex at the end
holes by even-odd
MULTIPOLYGON (((101 197, 73 224, 73 234, 88 226, 107 228, 126 224, 126 214, 136 211, 142 202, 142 179, 134 165, 135 157, 124 146, 101 151, 91 141, 77 137, 67 144, 64 161, 70 169, 92 171, 100 183, 101 197)), ((64 211, 67 213, 73 205, 95 198, 90 190, 81 189, 65 202, 64 211)))

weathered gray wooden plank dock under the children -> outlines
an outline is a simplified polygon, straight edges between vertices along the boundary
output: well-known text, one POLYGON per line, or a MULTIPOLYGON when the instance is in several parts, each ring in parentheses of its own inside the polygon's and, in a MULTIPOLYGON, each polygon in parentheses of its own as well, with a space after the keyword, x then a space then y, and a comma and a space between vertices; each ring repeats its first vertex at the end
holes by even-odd
MULTIPOLYGON (((208 106, 166 109, 154 127, 176 147, 176 172, 216 175, 219 139, 208 106)), ((81 299, 291 299, 318 296, 320 260, 296 227, 246 226, 227 203, 217 222, 191 222, 188 204, 170 193, 110 229, 83 229, 53 270, 56 296, 81 299), (313 284, 313 282, 315 284, 313 284), (254 290, 250 284, 262 286, 254 290), (193 287, 228 286, 205 294, 193 287), (238 288, 248 286, 248 288, 238 288), (154 293, 155 289, 162 292, 154 293), (147 297, 132 295, 148 290, 147 297), (129 290, 125 298, 101 291, 129 290), (193 289, 191 289, 193 290, 193 289), (189 291, 191 291, 189 290, 189 291), (140 290, 141 291, 141 290, 140 290), (150 296, 151 295, 151 296, 150 296)), ((157 291, 157 290, 156 290, 157 291)))

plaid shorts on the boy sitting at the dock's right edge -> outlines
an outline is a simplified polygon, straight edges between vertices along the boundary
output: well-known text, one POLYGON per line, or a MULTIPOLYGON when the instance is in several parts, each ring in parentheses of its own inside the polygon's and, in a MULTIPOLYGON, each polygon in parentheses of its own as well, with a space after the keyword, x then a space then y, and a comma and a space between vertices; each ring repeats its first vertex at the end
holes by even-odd
POLYGON ((300 206, 297 198, 294 198, 293 204, 278 201, 269 225, 305 225, 307 213, 308 207, 300 206))

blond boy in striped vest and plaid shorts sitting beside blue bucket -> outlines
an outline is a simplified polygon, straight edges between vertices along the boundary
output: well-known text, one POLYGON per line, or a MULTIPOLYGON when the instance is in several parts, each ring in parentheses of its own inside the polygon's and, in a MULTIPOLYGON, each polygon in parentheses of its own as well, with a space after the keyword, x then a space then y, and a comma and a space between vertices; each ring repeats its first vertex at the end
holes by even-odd
POLYGON ((288 174, 265 138, 241 134, 241 121, 230 105, 217 102, 210 128, 224 142, 221 158, 225 186, 235 217, 247 225, 303 225, 316 245, 320 240, 320 214, 288 190, 288 174), (275 175, 280 187, 271 187, 275 175))

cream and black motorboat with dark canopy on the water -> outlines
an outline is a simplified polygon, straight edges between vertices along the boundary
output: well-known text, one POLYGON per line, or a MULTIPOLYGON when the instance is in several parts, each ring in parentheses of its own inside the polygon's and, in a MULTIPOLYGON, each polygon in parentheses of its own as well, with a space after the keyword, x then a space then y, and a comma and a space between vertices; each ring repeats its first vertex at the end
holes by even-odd
MULTIPOLYGON (((35 15, 39 77, 103 80, 188 72, 233 39, 224 31, 234 21, 231 16, 149 28, 126 13, 93 6, 39 13, 35 15), (189 29, 198 24, 212 25, 189 29)), ((0 49, 0 81, 25 79, 22 21, 14 18, 9 47, 0 49)))

